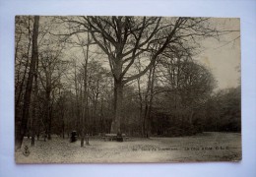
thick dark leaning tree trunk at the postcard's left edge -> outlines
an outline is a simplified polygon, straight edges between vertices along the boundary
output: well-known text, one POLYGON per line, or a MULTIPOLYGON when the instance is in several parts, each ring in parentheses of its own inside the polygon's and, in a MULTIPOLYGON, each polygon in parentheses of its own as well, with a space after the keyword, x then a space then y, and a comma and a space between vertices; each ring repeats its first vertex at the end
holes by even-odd
POLYGON ((30 66, 27 87, 24 95, 24 106, 23 106, 21 126, 17 128, 17 132, 16 132, 16 140, 15 140, 16 149, 22 147, 23 138, 27 131, 27 124, 28 124, 30 104, 31 104, 31 94, 32 94, 32 80, 35 72, 36 60, 38 59, 38 47, 37 47, 38 26, 39 26, 39 17, 34 16, 33 31, 32 31, 32 61, 30 66))

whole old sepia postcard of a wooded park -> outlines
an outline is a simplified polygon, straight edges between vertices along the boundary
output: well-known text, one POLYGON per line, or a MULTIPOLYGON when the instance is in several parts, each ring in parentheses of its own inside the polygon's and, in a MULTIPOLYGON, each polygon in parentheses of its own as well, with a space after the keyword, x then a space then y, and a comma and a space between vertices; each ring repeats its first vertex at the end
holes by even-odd
POLYGON ((240 19, 15 17, 16 163, 240 161, 240 19))

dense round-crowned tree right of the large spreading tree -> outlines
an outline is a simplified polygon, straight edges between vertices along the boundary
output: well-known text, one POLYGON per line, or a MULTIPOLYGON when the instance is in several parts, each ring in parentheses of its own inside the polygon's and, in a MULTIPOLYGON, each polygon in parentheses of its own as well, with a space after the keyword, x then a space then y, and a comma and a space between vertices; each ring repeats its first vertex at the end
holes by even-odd
POLYGON ((157 127, 163 123, 166 129, 158 131, 162 129, 160 125, 160 128, 155 126, 155 131, 166 135, 197 133, 197 120, 193 117, 204 107, 216 86, 211 72, 187 55, 162 57, 158 82, 155 123, 157 127), (157 121, 158 116, 163 120, 157 121))

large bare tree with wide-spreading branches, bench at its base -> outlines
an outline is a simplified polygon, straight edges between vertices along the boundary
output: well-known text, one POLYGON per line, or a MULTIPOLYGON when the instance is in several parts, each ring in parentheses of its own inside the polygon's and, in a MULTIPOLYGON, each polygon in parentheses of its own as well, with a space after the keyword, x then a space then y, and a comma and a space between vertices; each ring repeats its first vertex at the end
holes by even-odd
POLYGON ((121 132, 123 88, 151 69, 168 46, 192 49, 198 37, 215 36, 204 18, 160 17, 72 17, 62 18, 69 24, 68 34, 90 32, 106 55, 114 78, 114 118, 111 132, 121 132), (145 67, 136 73, 134 63, 144 56, 145 67))

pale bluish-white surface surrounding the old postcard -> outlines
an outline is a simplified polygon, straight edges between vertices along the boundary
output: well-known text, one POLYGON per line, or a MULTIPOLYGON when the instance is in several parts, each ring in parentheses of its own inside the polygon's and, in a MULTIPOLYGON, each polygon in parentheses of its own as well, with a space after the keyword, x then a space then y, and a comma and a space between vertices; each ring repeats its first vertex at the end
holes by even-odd
POLYGON ((256 1, 0 0, 0 176, 256 176, 256 1), (148 15, 241 18, 241 162, 16 165, 14 161, 15 15, 148 15))

